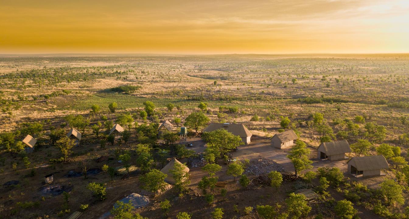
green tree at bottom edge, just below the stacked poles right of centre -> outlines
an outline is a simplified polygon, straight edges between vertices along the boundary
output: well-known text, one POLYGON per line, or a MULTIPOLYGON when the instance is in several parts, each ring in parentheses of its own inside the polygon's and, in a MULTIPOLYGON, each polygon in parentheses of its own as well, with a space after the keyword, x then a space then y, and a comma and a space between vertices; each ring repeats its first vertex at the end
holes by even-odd
POLYGON ((293 218, 307 217, 308 213, 311 211, 311 207, 308 206, 306 201, 306 196, 303 194, 291 193, 288 199, 285 199, 287 204, 287 211, 292 214, 293 218))

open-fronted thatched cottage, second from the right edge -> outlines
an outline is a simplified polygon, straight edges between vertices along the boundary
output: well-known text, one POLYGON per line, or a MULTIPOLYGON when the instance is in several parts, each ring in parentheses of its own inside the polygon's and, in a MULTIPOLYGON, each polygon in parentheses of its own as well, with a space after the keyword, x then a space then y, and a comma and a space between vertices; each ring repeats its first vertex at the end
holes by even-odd
POLYGON ((345 153, 351 152, 347 140, 322 142, 317 148, 319 159, 344 160, 345 153))

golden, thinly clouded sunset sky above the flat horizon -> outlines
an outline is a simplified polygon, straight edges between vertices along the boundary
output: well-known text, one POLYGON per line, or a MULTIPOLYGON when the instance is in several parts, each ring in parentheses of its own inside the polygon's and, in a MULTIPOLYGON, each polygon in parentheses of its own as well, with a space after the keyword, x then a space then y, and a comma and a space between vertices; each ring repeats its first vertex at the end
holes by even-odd
POLYGON ((0 53, 409 52, 409 0, 0 0, 0 53))

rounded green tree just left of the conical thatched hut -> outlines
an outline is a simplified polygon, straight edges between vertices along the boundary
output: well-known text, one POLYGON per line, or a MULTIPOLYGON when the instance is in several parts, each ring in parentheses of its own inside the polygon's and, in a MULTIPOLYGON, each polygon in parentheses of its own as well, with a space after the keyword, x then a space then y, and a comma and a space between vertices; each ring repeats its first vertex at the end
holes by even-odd
POLYGON ((150 172, 141 176, 140 181, 143 183, 142 188, 156 194, 157 190, 163 190, 166 186, 165 178, 168 175, 160 172, 157 169, 152 169, 150 172))

